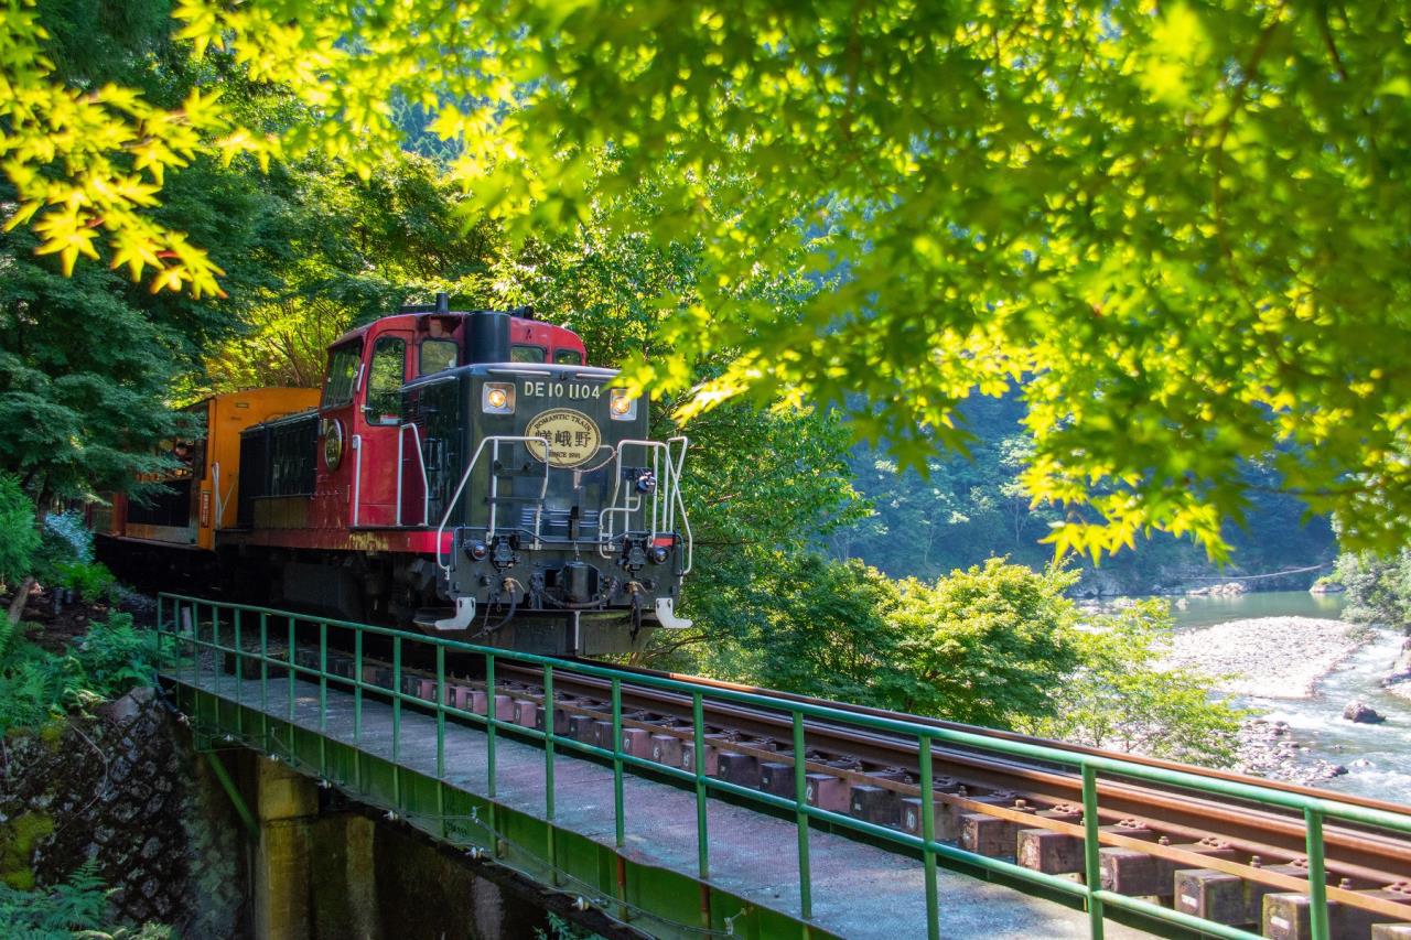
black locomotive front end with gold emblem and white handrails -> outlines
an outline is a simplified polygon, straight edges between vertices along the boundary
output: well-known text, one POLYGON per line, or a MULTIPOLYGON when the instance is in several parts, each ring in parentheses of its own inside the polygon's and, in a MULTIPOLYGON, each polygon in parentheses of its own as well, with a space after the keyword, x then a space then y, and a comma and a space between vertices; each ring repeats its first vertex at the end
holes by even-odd
POLYGON ((689 625, 676 615, 691 567, 687 442, 650 440, 648 402, 614 370, 477 363, 412 382, 405 398, 453 605, 423 627, 601 655, 689 625))

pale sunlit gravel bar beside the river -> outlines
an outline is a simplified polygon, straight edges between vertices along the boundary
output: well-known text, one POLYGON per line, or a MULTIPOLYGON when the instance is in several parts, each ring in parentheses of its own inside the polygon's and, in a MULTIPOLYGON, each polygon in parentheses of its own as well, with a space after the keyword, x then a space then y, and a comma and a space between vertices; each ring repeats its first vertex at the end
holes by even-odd
POLYGON ((1352 624, 1312 617, 1232 620, 1177 632, 1168 666, 1219 677, 1216 689, 1260 699, 1309 699, 1314 683, 1357 648, 1352 624))

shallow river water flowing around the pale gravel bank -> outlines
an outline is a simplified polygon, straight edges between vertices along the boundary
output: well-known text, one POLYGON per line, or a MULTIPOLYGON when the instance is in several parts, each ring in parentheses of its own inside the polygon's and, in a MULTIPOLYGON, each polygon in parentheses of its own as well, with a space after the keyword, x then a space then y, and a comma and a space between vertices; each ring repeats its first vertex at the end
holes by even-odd
MULTIPOLYGON (((1345 603, 1340 594, 1315 596, 1307 591, 1184 600, 1184 608, 1173 607, 1171 611, 1178 629, 1253 617, 1336 620, 1345 603)), ((1401 649, 1401 641, 1395 631, 1376 631, 1369 642, 1318 682, 1311 699, 1245 697, 1240 704, 1267 713, 1270 721, 1287 721, 1292 737, 1309 748, 1311 757, 1348 768, 1346 775, 1318 786, 1411 803, 1411 701, 1380 685, 1401 649), (1353 724, 1343 720, 1343 707, 1355 699, 1386 716, 1386 723, 1353 724)))

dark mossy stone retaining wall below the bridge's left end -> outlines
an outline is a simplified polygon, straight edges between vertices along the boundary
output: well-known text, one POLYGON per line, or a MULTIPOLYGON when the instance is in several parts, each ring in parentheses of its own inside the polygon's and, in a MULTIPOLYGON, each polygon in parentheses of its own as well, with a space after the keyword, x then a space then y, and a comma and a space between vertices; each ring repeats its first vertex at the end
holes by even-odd
POLYGON ((3 741, 0 879, 56 884, 96 860, 114 920, 241 936, 240 823, 190 734, 148 689, 100 711, 3 741))

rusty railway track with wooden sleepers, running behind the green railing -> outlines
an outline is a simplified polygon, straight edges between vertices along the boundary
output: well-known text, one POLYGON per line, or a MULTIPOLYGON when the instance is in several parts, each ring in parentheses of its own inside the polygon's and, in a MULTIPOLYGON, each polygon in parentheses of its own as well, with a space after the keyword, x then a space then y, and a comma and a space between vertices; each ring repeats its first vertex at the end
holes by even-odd
MULTIPOLYGON (((374 651, 375 652, 375 651, 374 651)), ((271 655, 275 651, 271 648, 271 655)), ((282 652, 279 653, 282 656, 282 652)), ((296 648, 296 663, 317 669, 319 651, 296 648)), ((457 663, 473 666, 473 663, 457 663)), ((227 663, 231 668, 233 663, 227 663)), ((327 655, 327 670, 353 679, 353 656, 327 655)), ((466 672, 474 672, 473 668, 466 672)), ((652 670, 629 670, 666 676, 652 670)), ((436 673, 404 662, 401 692, 435 703, 436 673)), ((682 676, 672 676, 684 679, 682 676)), ((364 655, 364 689, 391 690, 389 662, 364 655)), ((703 761, 710 776, 737 786, 794 795, 793 725, 782 711, 713 700, 711 690, 761 692, 748 686, 690 677, 701 687, 706 735, 703 754, 693 740, 693 696, 648 686, 621 686, 624 754, 694 772, 703 761)), ((903 717, 1000 738, 1040 744, 1078 755, 1106 755, 1154 768, 1254 783, 1307 796, 1312 788, 1245 778, 1153 758, 1112 755, 1095 748, 1027 738, 1005 731, 896 716, 807 696, 768 693, 790 701, 842 711, 903 717)), ((404 699, 405 701, 405 699, 404 699)), ((543 730, 550 709, 545 703, 542 670, 498 662, 495 685, 484 677, 447 673, 446 704, 485 716, 494 710, 505 725, 543 730)), ((598 748, 614 748, 611 683, 555 670, 552 721, 556 734, 598 748)), ((978 748, 935 745, 933 799, 935 834, 979 855, 1012 860, 1048 875, 1081 879, 1084 872, 1082 781, 1061 762, 996 758, 978 748)), ((804 723, 806 793, 811 805, 876 826, 920 836, 921 792, 917 785, 919 748, 904 738, 835 723, 804 723)), ((1339 795, 1342 803, 1407 814, 1404 806, 1339 795)), ((1236 799, 1195 796, 1177 786, 1105 775, 1098 781, 1101 872, 1105 889, 1157 899, 1182 913, 1216 923, 1256 927, 1266 936, 1300 939, 1308 929, 1307 828, 1301 816, 1236 799), (1267 903, 1266 903, 1266 896, 1267 903)), ((1326 871, 1335 937, 1371 937, 1376 923, 1411 923, 1411 840, 1369 826, 1329 823, 1324 827, 1326 871)), ((1401 937, 1407 933, 1379 936, 1401 937)))

